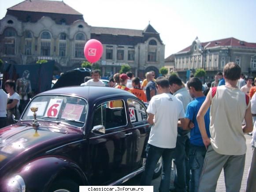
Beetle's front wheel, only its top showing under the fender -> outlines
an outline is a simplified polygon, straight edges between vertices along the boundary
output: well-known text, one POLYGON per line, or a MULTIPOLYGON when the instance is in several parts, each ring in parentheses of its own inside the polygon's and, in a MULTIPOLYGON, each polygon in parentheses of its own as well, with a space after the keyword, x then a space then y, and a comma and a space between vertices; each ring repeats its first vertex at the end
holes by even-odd
POLYGON ((58 180, 52 184, 50 192, 79 192, 79 185, 72 180, 58 180))

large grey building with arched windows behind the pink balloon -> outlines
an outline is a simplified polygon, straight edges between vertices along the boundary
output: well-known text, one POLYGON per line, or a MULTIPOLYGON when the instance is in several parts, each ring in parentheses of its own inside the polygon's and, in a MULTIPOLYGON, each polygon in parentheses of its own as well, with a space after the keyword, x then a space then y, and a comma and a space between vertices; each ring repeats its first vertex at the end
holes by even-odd
POLYGON ((103 76, 113 75, 125 63, 141 77, 149 70, 158 73, 164 65, 165 46, 150 24, 145 30, 93 27, 63 1, 45 0, 23 1, 0 20, 0 58, 7 63, 46 59, 55 60, 56 73, 78 68, 89 39, 104 46, 98 61, 103 76))

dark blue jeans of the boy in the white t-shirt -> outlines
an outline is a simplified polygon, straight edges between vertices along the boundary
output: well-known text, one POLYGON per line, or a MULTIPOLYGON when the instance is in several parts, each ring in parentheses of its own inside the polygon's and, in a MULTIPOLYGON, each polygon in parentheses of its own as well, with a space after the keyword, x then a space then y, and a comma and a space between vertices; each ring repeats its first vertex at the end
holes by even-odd
POLYGON ((162 156, 162 179, 159 186, 159 192, 168 192, 171 177, 171 160, 174 158, 175 148, 158 148, 151 144, 147 146, 147 159, 145 164, 145 171, 141 177, 141 185, 151 185, 152 177, 156 164, 162 156))

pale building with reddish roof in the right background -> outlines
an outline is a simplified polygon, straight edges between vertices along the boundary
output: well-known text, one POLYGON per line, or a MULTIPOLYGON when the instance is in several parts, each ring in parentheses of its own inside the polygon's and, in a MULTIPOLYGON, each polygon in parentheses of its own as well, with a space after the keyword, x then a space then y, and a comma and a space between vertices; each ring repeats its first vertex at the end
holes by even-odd
POLYGON ((232 61, 241 66, 242 73, 256 76, 256 43, 249 43, 233 37, 201 43, 193 43, 174 54, 174 70, 186 82, 186 71, 193 74, 196 69, 206 71, 206 81, 213 81, 218 71, 232 61))

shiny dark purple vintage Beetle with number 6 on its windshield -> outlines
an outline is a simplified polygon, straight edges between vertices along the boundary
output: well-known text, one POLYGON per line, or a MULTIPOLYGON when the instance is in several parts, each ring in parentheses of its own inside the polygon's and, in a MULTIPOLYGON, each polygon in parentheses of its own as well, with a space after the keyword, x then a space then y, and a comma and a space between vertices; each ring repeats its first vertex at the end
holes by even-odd
MULTIPOLYGON (((150 125, 146 106, 109 87, 66 87, 35 96, 0 129, 0 191, 79 191, 141 173, 150 125)), ((156 175, 160 174, 156 167, 156 175)))

